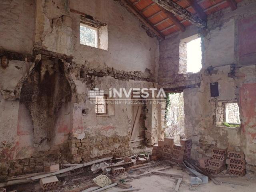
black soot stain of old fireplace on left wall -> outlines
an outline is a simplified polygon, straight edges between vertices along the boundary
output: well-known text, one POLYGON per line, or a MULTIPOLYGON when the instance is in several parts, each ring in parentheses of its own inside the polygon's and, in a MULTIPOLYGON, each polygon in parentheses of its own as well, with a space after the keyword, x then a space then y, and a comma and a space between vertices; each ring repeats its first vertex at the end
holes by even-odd
POLYGON ((64 63, 56 58, 42 58, 20 92, 20 104, 26 106, 32 118, 34 146, 53 140, 58 112, 71 97, 64 63))

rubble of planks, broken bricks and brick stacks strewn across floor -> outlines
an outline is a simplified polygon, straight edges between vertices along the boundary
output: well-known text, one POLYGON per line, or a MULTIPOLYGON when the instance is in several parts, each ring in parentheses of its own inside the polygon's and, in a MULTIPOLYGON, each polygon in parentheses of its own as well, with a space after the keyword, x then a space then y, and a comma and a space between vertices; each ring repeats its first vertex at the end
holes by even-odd
POLYGON ((109 157, 83 164, 49 163, 45 164, 45 172, 8 178, 7 182, 0 184, 0 192, 6 192, 6 189, 18 192, 99 192, 108 189, 115 192, 136 191, 140 188, 133 187, 129 182, 148 175, 172 178, 175 183, 172 190, 178 191, 183 176, 166 172, 174 166, 189 174, 191 186, 207 184, 208 179, 216 185, 247 185, 223 179, 244 176, 246 162, 242 152, 214 148, 212 158, 203 157, 196 162, 190 159, 191 148, 190 139, 182 139, 180 144, 174 144, 172 138, 164 138, 164 141, 158 141, 158 145, 152 147, 152 154, 149 155, 138 153, 130 157, 109 157), (116 187, 122 190, 112 190, 116 187))

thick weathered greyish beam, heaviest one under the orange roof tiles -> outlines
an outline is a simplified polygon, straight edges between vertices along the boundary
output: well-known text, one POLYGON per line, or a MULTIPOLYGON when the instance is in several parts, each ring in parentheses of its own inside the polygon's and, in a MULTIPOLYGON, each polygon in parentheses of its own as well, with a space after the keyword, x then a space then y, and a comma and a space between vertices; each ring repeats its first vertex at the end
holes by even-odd
POLYGON ((192 24, 202 27, 206 26, 206 22, 202 19, 198 18, 198 16, 190 13, 186 9, 184 9, 182 6, 178 5, 176 2, 173 2, 172 0, 152 0, 162 8, 172 12, 175 15, 178 15, 185 20, 191 22, 192 24))

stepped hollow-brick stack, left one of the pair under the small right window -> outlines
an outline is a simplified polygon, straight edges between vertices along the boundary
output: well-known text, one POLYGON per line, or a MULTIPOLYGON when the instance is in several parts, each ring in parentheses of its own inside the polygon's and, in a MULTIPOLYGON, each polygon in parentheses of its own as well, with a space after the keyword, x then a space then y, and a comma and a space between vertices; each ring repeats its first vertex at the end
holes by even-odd
POLYGON ((211 174, 218 174, 226 169, 226 149, 213 149, 212 159, 208 160, 205 170, 211 174))

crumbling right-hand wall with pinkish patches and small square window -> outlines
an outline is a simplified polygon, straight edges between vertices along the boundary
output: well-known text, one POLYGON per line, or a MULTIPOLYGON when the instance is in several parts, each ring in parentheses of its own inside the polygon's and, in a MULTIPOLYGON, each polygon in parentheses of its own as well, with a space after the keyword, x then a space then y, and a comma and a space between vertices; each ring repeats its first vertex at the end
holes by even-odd
POLYGON ((193 140, 194 159, 211 156, 213 147, 228 148, 243 151, 247 168, 255 170, 255 12, 256 2, 244 0, 234 11, 227 8, 208 16, 207 29, 189 27, 160 42, 159 82, 169 91, 184 90, 185 133, 193 140), (250 30, 242 30, 244 24, 250 30), (178 42, 194 34, 202 37, 202 70, 178 74, 178 62, 168 58, 178 61, 178 42), (210 97, 212 82, 219 84, 218 97, 210 97), (241 127, 216 126, 218 103, 231 100, 240 107, 241 127))

